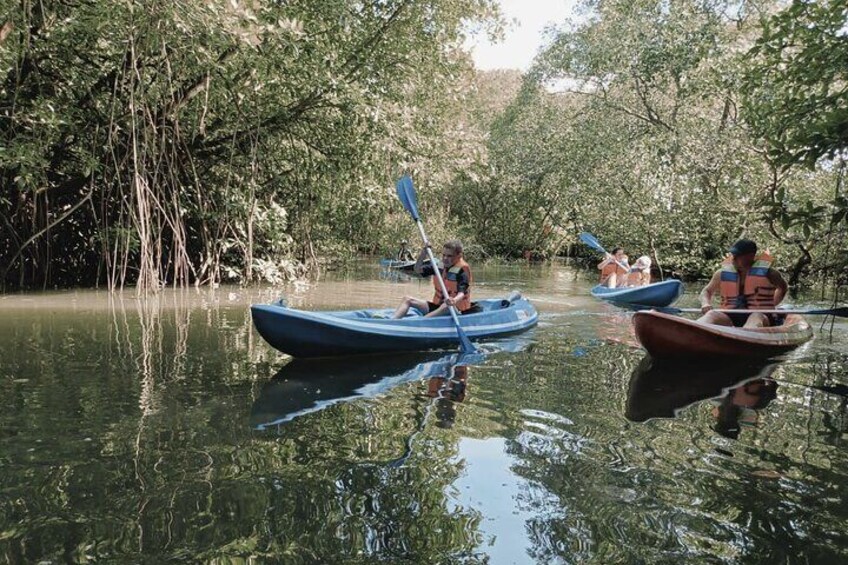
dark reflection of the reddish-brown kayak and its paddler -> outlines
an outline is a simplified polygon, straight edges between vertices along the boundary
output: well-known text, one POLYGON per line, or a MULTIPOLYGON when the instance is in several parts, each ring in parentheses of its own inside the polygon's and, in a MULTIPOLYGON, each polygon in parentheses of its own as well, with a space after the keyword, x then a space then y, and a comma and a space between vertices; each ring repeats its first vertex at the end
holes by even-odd
POLYGON ((740 423, 756 421, 756 411, 776 397, 777 383, 768 378, 776 368, 776 363, 658 363, 646 356, 630 379, 624 415, 632 422, 674 418, 691 404, 719 399, 715 429, 735 438, 740 423))

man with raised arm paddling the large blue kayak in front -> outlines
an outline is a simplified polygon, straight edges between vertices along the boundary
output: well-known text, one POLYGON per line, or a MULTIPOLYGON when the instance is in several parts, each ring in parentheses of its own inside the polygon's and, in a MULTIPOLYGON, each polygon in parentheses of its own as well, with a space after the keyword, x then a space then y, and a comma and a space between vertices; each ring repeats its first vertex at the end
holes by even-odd
MULTIPOLYGON (((425 265, 424 259, 427 258, 427 245, 421 249, 418 254, 418 260, 415 262, 415 272, 422 277, 429 277, 435 274, 432 265, 425 265)), ((428 302, 406 296, 398 309, 395 310, 393 318, 403 318, 409 312, 410 308, 416 308, 424 313, 425 316, 440 316, 446 314, 448 305, 455 306, 460 314, 470 314, 477 311, 477 306, 471 304, 471 267, 465 262, 462 257, 462 243, 456 239, 452 239, 445 243, 442 248, 442 279, 445 281, 445 288, 448 291, 448 296, 442 296, 442 289, 439 286, 439 281, 433 277, 433 286, 436 291, 433 295, 433 300, 428 302)))

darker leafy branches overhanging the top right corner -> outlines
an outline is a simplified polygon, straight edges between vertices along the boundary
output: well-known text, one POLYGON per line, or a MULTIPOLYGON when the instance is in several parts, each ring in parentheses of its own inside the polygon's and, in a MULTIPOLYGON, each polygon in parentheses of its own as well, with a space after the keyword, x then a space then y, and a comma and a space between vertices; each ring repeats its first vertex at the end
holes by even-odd
POLYGON ((848 4, 792 5, 765 22, 741 84, 746 119, 782 165, 848 146, 848 4))

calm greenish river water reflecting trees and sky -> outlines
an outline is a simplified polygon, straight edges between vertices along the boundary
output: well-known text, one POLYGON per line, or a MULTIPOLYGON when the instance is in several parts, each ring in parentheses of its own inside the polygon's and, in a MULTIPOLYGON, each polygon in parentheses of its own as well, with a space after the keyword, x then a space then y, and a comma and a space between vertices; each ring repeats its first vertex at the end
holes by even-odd
POLYGON ((0 297, 0 561, 848 561, 848 324, 780 364, 652 367, 584 275, 475 276, 541 322, 468 366, 290 362, 252 330, 249 304, 280 295, 430 292, 371 264, 0 297))

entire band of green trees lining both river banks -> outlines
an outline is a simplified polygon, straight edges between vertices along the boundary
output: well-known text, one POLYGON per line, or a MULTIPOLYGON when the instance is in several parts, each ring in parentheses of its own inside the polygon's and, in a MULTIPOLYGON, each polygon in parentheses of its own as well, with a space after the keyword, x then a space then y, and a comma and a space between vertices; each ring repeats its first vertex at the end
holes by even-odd
POLYGON ((588 0, 475 72, 490 0, 77 5, 0 22, 6 289, 278 281, 414 228, 478 256, 592 231, 664 274, 732 240, 848 284, 848 8, 588 0))

